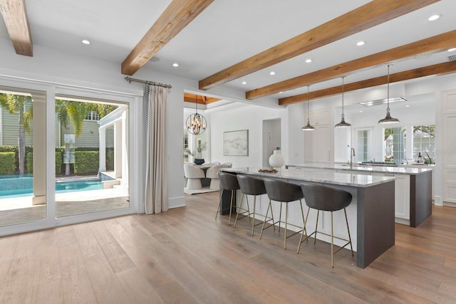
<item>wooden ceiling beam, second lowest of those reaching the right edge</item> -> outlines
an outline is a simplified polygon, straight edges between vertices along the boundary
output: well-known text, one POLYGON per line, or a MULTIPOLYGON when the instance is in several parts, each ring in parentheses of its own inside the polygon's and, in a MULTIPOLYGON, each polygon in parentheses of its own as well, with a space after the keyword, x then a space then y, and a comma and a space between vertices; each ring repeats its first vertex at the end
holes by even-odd
POLYGON ((418 55, 430 55, 446 51, 448 48, 455 47, 456 30, 447 33, 442 33, 437 36, 426 38, 413 43, 408 43, 405 46, 398 46, 389 50, 375 53, 363 58, 358 58, 353 61, 333 65, 323 70, 316 70, 315 72, 301 75, 289 80, 284 80, 279 83, 266 85, 263 88, 257 88, 246 92, 246 98, 249 100, 264 97, 274 93, 291 90, 294 88, 301 88, 306 85, 320 83, 321 81, 331 80, 343 75, 348 75, 355 71, 372 68, 385 63, 392 63, 393 61, 405 60, 413 58, 418 55))

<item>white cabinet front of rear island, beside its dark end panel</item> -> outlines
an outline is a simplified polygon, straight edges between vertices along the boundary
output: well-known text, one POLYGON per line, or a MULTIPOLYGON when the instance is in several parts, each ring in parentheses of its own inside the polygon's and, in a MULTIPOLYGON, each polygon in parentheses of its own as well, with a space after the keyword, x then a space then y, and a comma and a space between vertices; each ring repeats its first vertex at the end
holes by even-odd
POLYGON ((375 173, 372 175, 395 178, 395 218, 400 224, 410 224, 410 175, 375 173), (398 220, 399 219, 399 220, 398 220), (405 220, 405 221, 401 221, 405 220))

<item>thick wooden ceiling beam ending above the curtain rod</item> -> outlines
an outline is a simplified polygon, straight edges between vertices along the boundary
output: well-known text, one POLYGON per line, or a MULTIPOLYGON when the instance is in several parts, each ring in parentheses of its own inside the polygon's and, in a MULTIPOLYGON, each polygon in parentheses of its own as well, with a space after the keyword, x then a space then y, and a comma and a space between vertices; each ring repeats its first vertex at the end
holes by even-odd
POLYGON ((173 0, 155 21, 121 66, 124 75, 133 75, 150 61, 177 33, 195 19, 214 0, 173 0))

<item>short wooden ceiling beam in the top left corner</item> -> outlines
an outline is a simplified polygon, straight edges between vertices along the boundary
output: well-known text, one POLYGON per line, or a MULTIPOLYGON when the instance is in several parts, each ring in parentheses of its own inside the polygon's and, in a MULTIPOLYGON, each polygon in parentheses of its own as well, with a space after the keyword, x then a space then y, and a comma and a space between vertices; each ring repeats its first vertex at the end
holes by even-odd
POLYGON ((0 12, 16 53, 33 56, 25 0, 0 0, 0 12))

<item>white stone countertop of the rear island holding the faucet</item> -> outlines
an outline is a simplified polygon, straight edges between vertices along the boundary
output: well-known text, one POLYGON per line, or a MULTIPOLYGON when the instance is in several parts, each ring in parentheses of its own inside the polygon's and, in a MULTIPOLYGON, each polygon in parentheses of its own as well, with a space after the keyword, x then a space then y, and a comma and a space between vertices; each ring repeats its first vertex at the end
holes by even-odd
POLYGON ((431 166, 407 166, 407 167, 387 167, 387 166, 369 166, 362 164, 331 164, 331 163, 309 163, 309 164, 286 164, 285 167, 289 168, 306 168, 306 169, 332 169, 332 170, 347 170, 356 171, 363 174, 363 172, 375 173, 389 173, 389 174, 408 174, 417 175, 424 172, 432 171, 431 166))

